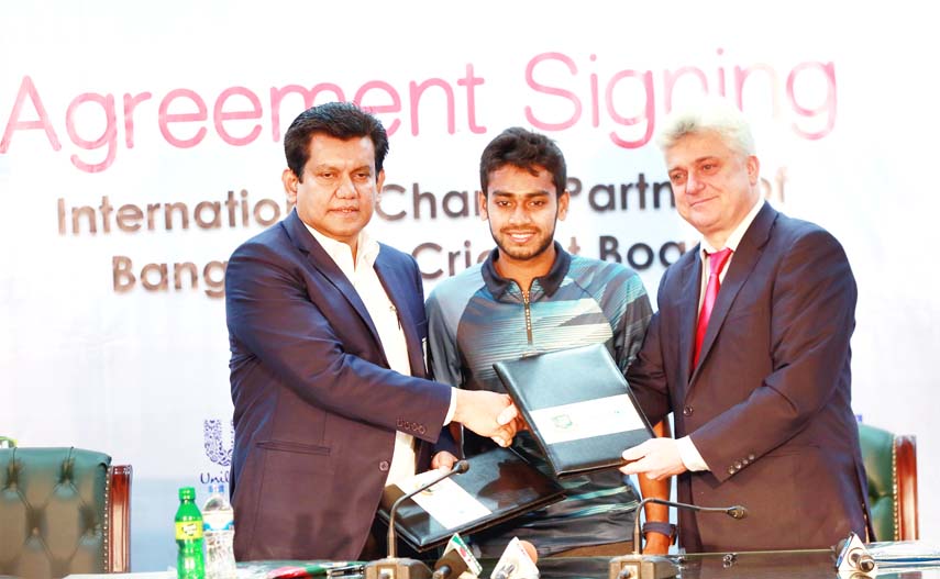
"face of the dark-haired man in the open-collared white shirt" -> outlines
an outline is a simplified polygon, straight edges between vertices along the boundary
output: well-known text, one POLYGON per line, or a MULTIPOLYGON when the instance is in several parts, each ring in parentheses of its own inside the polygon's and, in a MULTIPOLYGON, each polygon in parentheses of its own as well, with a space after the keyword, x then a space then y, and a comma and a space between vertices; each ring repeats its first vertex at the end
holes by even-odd
POLYGON ((303 223, 355 250, 385 181, 385 171, 375 171, 375 145, 367 136, 343 141, 318 133, 309 152, 302 181, 284 171, 287 198, 303 223))

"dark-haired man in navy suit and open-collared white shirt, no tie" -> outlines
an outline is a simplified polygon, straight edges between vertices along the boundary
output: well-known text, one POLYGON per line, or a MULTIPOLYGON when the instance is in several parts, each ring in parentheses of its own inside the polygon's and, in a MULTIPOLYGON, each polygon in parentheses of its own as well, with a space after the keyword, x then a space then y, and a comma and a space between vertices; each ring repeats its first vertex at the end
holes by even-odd
POLYGON ((444 424, 512 438, 507 396, 424 378, 417 263, 364 230, 387 152, 353 104, 301 113, 285 135, 295 210, 229 259, 240 560, 375 556, 384 487, 429 466, 444 424))

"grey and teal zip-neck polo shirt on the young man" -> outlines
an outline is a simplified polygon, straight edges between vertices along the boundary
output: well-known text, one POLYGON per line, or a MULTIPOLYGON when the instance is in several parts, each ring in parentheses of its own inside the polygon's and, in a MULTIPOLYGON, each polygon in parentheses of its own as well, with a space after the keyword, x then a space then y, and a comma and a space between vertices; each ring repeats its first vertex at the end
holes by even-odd
MULTIPOLYGON (((505 392, 493 369, 499 360, 534 353, 606 344, 622 370, 643 342, 652 310, 635 271, 612 261, 573 256, 555 243, 548 275, 528 296, 501 278, 494 249, 483 263, 441 281, 428 298, 428 346, 434 379, 468 390, 505 392)), ((572 385, 577 388, 577 385, 572 385)), ((468 431, 465 456, 494 443, 468 431)), ((528 433, 513 447, 542 468, 544 458, 528 433)), ((499 556, 513 536, 540 555, 630 541, 639 494, 618 470, 565 478, 567 498, 472 537, 484 555, 499 556)))

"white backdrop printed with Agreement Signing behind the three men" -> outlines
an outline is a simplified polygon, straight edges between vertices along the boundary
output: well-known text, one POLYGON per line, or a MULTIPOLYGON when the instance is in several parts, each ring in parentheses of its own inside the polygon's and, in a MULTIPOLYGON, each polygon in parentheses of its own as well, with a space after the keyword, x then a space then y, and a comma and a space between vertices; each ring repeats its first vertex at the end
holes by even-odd
POLYGON ((649 133, 708 91, 752 116, 772 202, 845 246, 854 408, 917 435, 936 541, 930 19, 904 1, 649 4, 4 3, 0 435, 132 464, 134 569, 173 565, 176 488, 228 477, 223 263, 285 210, 280 138, 305 91, 389 127, 388 216, 371 229, 440 270, 427 290, 491 246, 464 200, 483 146, 523 125, 576 179, 559 237, 629 258, 651 293, 661 249, 675 259, 690 234, 656 203, 649 133))

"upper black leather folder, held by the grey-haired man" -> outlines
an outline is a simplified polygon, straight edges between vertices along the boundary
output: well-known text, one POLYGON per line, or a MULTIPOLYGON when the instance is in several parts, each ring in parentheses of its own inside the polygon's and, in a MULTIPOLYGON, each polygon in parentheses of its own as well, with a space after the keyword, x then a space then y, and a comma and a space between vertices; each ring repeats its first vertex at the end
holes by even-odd
POLYGON ((556 477, 624 465, 653 430, 602 344, 493 365, 556 477))

